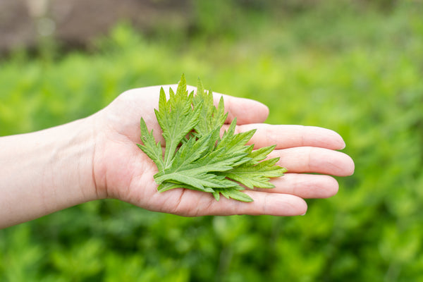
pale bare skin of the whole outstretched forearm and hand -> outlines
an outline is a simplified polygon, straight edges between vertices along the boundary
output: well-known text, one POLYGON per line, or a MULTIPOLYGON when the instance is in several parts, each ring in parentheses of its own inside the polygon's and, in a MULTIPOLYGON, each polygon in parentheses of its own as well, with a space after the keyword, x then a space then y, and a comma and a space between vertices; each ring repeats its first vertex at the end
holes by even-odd
MULTIPOLYGON (((176 85, 166 85, 176 89, 176 85)), ((188 87, 194 90, 194 87, 188 87)), ((222 94, 214 94, 217 103, 222 94)), ((257 128, 255 148, 276 145, 270 157, 288 168, 271 180, 273 189, 245 190, 254 202, 206 192, 174 189, 157 192, 157 167, 136 145, 140 118, 156 140, 163 139, 154 116, 159 86, 124 92, 101 111, 54 128, 0 137, 0 228, 37 219, 76 204, 114 198, 154 212, 181 216, 305 214, 303 199, 338 192, 332 176, 350 176, 353 160, 338 149, 345 143, 332 130, 301 125, 265 124, 269 109, 250 99, 223 95, 226 127, 237 118, 237 130, 257 128), (307 174, 319 173, 319 174, 307 174)))

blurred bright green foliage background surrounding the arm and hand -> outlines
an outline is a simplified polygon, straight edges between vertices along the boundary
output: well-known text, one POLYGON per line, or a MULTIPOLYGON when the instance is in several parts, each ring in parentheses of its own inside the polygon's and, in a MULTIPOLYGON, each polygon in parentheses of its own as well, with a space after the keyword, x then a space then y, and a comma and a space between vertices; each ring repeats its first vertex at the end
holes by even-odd
POLYGON ((336 130, 356 169, 290 218, 81 204, 1 230, 0 281, 423 281, 422 14, 422 1, 192 1, 190 23, 123 21, 89 48, 13 49, 0 135, 185 73, 263 102, 268 123, 336 130))

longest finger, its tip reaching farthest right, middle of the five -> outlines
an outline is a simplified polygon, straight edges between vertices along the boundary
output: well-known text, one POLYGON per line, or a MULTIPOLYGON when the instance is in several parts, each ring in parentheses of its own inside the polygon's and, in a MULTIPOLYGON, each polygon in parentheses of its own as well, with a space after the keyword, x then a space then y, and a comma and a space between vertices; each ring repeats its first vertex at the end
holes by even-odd
POLYGON ((342 152, 318 147, 295 147, 275 150, 269 158, 280 157, 278 166, 289 173, 324 173, 332 176, 350 176, 354 161, 342 152))

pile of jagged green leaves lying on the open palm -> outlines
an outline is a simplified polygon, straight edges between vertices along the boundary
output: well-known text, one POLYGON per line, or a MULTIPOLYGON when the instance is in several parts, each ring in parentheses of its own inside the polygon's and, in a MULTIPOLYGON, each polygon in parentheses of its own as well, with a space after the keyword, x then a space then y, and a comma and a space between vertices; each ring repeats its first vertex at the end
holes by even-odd
POLYGON ((223 98, 217 108, 211 91, 204 91, 198 80, 197 94, 188 94, 185 76, 182 75, 176 93, 169 89, 170 97, 161 88, 159 109, 154 109, 166 141, 165 152, 160 142, 149 132, 141 118, 141 140, 137 144, 142 152, 154 161, 159 172, 154 180, 159 192, 173 188, 187 188, 210 192, 219 201, 220 194, 243 202, 252 198, 241 190, 243 186, 274 188, 269 178, 283 176, 285 168, 276 166, 278 158, 266 159, 276 147, 263 147, 253 151, 246 145, 255 130, 235 134, 236 118, 228 130, 219 133, 228 116, 223 109, 223 98))

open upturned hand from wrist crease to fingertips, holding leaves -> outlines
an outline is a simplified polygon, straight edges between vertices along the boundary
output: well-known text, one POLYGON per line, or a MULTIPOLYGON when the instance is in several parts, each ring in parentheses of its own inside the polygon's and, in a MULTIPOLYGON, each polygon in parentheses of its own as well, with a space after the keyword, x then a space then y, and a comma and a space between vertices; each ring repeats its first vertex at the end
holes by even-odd
MULTIPOLYGON (((169 86, 164 86, 167 92, 169 86)), ((171 85, 176 89, 176 85, 171 85)), ((226 126, 237 118, 237 130, 257 128, 251 142, 259 147, 276 145, 271 157, 280 157, 278 165, 288 168, 281 178, 271 180, 273 189, 246 189, 254 202, 238 202, 221 197, 217 202, 206 192, 173 189, 157 192, 154 174, 157 167, 136 145, 140 143, 140 118, 144 118, 154 138, 164 140, 154 115, 160 87, 145 87, 121 94, 102 111, 94 114, 95 153, 94 183, 100 198, 112 197, 157 212, 182 216, 271 214, 293 216, 305 214, 302 198, 324 198, 335 195, 337 181, 333 176, 349 176, 354 171, 343 149, 341 136, 332 130, 300 125, 267 125, 269 110, 250 99, 223 95, 228 112, 226 126), (303 174, 303 173, 321 173, 303 174)), ((189 87, 189 91, 194 90, 189 87)), ((217 103, 221 94, 214 94, 217 103)))

